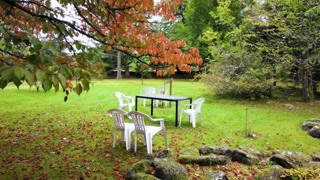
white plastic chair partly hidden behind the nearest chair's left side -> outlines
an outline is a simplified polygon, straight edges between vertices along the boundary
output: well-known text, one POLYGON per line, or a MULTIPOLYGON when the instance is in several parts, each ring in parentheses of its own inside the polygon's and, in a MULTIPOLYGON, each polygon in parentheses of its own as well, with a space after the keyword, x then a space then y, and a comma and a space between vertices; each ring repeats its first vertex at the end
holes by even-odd
POLYGON ((107 114, 114 119, 114 143, 112 147, 116 147, 116 132, 121 131, 122 140, 126 142, 126 151, 128 151, 131 148, 131 132, 135 130, 133 123, 124 122, 124 115, 127 115, 128 112, 120 109, 110 109, 107 114))

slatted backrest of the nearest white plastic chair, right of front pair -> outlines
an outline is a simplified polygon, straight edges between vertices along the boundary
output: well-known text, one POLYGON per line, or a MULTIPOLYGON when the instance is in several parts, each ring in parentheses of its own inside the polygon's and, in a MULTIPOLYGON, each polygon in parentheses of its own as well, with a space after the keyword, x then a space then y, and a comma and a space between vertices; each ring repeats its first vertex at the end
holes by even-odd
POLYGON ((137 112, 137 111, 129 112, 128 117, 133 120, 133 123, 135 124, 135 132, 137 132, 137 134, 146 134, 144 117, 146 119, 151 119, 151 117, 149 117, 148 115, 142 112, 137 112))

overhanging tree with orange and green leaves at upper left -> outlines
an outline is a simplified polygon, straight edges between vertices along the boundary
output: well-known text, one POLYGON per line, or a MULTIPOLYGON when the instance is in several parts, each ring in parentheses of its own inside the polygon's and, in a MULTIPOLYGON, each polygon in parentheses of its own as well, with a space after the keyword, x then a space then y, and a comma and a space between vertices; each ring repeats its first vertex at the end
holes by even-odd
POLYGON ((185 46, 184 41, 172 41, 163 33, 150 31, 152 23, 148 18, 173 19, 181 0, 157 4, 152 0, 58 0, 57 3, 59 6, 55 7, 50 0, 0 1, 0 36, 6 44, 23 44, 29 50, 25 55, 17 55, 11 50, 0 49, 5 53, 0 58, 1 89, 8 82, 19 84, 22 80, 27 80, 30 87, 39 80, 45 91, 52 86, 59 87, 59 84, 65 89, 72 85, 68 80, 77 77, 81 83, 75 87, 76 92, 88 91, 90 72, 94 72, 90 68, 96 63, 95 70, 100 71, 101 63, 93 48, 75 40, 79 35, 105 44, 107 50, 131 55, 142 63, 146 63, 142 57, 149 56, 151 63, 157 66, 157 75, 174 73, 176 67, 189 72, 189 64, 202 63, 198 50, 193 48, 183 53, 179 49, 185 46), (74 13, 69 14, 67 10, 74 13), (47 40, 62 37, 58 46, 68 48, 70 56, 44 61, 44 46, 52 52, 57 46, 44 43, 39 37, 47 40))

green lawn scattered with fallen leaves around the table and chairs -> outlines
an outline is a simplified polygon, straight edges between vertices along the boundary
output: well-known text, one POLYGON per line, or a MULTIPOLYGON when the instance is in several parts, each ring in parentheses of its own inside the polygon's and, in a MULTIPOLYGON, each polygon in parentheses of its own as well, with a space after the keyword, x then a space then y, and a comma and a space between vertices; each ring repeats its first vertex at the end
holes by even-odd
MULTIPOLYGON (((144 86, 163 87, 163 82, 144 80, 144 86)), ((25 84, 18 91, 9 85, 0 91, 0 179, 122 179, 126 168, 146 155, 146 147, 140 140, 134 154, 118 138, 113 149, 113 121, 105 112, 118 107, 116 91, 134 96, 144 86, 135 79, 98 80, 89 93, 70 93, 64 102, 62 91, 37 92, 25 84)), ((197 121, 196 129, 186 116, 181 127, 174 127, 174 106, 154 109, 155 118, 165 119, 169 149, 176 153, 203 145, 319 152, 319 140, 301 128, 306 119, 320 117, 319 102, 222 99, 191 80, 174 80, 173 94, 194 100, 206 97, 203 127, 197 121), (287 103, 297 108, 284 108, 287 103), (249 108, 250 132, 256 138, 244 135, 245 108, 249 108)), ((150 114, 148 103, 146 107, 139 104, 139 111, 150 114)), ((165 148, 163 136, 154 136, 153 142, 154 153, 165 148)), ((190 173, 198 173, 196 169, 188 167, 190 173)))

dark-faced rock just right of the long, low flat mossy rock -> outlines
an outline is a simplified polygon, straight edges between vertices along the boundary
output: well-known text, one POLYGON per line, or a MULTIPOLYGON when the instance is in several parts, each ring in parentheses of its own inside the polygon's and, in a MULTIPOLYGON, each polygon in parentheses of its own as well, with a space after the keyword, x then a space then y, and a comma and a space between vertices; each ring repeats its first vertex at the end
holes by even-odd
POLYGON ((241 149, 235 149, 231 155, 232 161, 240 162, 242 164, 248 164, 250 166, 260 162, 259 158, 256 155, 246 153, 241 149))

